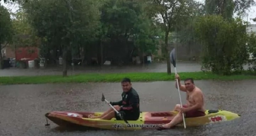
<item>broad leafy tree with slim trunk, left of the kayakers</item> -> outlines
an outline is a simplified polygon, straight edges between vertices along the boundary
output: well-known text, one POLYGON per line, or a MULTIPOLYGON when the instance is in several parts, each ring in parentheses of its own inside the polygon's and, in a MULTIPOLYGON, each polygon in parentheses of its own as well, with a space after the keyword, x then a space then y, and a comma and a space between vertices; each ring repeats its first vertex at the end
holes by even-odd
POLYGON ((68 52, 94 36, 99 5, 95 0, 31 0, 23 6, 42 44, 62 50, 63 76, 67 76, 68 52))

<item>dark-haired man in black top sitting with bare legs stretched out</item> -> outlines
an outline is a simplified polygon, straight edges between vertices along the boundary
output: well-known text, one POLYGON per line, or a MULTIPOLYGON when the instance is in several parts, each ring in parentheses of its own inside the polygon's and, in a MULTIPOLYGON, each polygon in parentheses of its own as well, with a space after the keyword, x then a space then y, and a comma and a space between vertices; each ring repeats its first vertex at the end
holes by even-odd
MULTIPOLYGON (((140 117, 140 98, 138 93, 132 88, 131 80, 124 78, 121 82, 123 93, 122 100, 117 102, 109 102, 117 111, 119 111, 125 120, 137 120, 140 117)), ((101 116, 89 115, 88 118, 100 118, 110 120, 113 117, 121 120, 113 108, 104 112, 101 116)))

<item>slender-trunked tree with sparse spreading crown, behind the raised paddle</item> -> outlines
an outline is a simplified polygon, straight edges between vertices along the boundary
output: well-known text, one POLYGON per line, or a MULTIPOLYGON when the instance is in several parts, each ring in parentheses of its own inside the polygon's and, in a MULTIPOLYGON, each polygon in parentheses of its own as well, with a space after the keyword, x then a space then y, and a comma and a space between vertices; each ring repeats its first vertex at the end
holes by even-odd
POLYGON ((162 51, 167 61, 167 73, 171 74, 169 34, 180 30, 187 24, 189 17, 198 14, 196 12, 200 12, 200 9, 197 9, 200 4, 193 0, 148 0, 146 4, 149 15, 164 31, 162 51))

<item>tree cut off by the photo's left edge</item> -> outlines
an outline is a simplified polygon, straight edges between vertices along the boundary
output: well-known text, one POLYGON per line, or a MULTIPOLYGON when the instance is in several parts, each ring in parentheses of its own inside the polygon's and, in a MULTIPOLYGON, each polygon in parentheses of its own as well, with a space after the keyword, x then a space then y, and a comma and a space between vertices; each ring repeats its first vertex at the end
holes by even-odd
POLYGON ((2 49, 12 41, 12 20, 10 13, 0 5, 0 67, 3 68, 2 49))

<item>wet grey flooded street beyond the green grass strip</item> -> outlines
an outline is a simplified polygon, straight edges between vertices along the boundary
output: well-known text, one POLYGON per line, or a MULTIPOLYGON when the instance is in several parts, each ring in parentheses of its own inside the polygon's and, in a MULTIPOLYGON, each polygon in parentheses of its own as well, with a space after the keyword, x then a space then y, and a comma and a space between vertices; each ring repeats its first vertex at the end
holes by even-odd
MULTIPOLYGON (((177 62, 178 72, 195 72, 201 70, 201 65, 196 62, 177 62)), ((173 66, 171 70, 174 71, 173 66)), ((142 65, 129 65, 129 66, 72 66, 68 68, 68 75, 80 73, 124 73, 124 72, 167 72, 166 63, 151 63, 142 65)), ((49 68, 7 68, 0 69, 0 76, 36 76, 36 75, 62 75, 62 67, 49 67, 49 68)))

